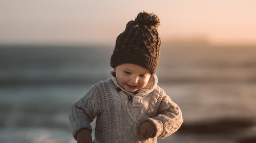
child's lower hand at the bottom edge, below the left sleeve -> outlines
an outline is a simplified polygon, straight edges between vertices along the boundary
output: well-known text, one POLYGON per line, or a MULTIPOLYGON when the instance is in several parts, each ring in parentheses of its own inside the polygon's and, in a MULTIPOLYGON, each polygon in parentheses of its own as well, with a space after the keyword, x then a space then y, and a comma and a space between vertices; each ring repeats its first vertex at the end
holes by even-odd
POLYGON ((92 136, 91 132, 88 129, 81 129, 78 131, 77 136, 77 143, 92 143, 92 136))

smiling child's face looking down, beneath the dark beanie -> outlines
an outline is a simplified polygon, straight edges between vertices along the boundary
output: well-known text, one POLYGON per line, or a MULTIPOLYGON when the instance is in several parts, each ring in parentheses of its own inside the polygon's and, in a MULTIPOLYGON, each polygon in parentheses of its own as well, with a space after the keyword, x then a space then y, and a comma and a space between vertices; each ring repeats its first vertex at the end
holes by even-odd
POLYGON ((114 70, 118 84, 131 93, 146 87, 151 77, 149 70, 135 64, 121 64, 114 70))

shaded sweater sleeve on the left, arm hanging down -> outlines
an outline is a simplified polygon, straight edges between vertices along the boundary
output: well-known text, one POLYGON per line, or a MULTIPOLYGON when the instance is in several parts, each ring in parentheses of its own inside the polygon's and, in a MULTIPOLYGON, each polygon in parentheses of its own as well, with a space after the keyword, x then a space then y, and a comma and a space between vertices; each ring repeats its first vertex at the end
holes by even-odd
POLYGON ((84 97, 74 103, 71 107, 69 120, 72 128, 72 134, 75 139, 79 129, 87 128, 92 132, 90 123, 97 116, 98 112, 99 103, 97 93, 95 89, 92 88, 84 97))

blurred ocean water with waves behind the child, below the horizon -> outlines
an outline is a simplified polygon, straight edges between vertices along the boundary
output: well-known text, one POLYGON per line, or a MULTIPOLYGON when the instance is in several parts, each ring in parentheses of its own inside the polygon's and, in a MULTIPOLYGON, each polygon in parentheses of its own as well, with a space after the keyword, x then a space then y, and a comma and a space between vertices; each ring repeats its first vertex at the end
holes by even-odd
MULTIPOLYGON (((0 45, 0 142, 76 142, 70 107, 109 77, 113 49, 0 45)), ((184 117, 159 142, 256 142, 255 46, 165 44, 156 74, 184 117)))

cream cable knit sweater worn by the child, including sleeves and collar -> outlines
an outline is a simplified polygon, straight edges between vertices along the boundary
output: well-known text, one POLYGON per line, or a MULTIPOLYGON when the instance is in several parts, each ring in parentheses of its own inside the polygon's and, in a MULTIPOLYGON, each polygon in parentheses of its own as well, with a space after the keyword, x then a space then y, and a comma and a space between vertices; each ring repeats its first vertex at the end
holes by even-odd
POLYGON ((97 117, 93 142, 157 142, 157 137, 167 137, 181 126, 180 108, 157 85, 153 74, 145 88, 136 95, 126 92, 111 74, 106 81, 93 85, 91 90, 72 106, 70 124, 76 139, 77 131, 87 128, 97 117), (140 125, 151 122, 154 137, 139 137, 140 125))

